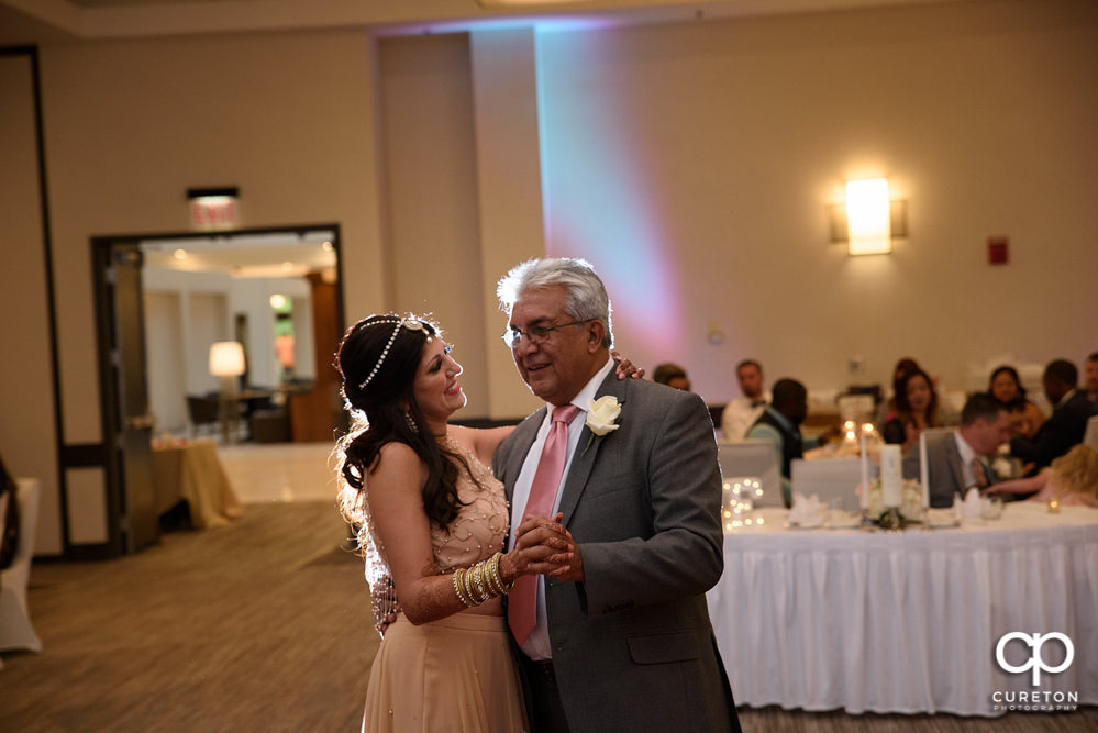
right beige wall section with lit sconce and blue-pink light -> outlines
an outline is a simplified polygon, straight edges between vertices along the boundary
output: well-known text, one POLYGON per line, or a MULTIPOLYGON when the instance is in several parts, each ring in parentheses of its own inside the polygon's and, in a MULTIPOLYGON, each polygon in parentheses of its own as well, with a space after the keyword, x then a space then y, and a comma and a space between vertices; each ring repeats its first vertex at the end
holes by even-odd
POLYGON ((823 389, 912 355, 958 389, 995 355, 1098 348, 1098 4, 544 34, 540 54, 548 249, 591 259, 622 348, 709 401, 746 356, 823 389), (849 257, 825 207, 870 176, 910 236, 849 257))

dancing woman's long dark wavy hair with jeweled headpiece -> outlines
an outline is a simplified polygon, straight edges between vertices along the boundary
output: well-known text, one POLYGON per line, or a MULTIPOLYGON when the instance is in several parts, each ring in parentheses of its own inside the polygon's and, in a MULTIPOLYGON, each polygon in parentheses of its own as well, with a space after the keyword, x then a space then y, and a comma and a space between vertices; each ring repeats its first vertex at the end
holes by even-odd
POLYGON ((350 522, 364 523, 366 475, 377 467, 382 446, 393 442, 412 448, 428 469, 423 511, 432 522, 446 526, 463 506, 457 497, 455 462, 466 468, 468 465, 431 434, 413 393, 423 348, 430 340, 441 336, 442 330, 428 319, 395 313, 370 315, 343 334, 335 367, 342 379, 340 393, 344 408, 351 414, 351 430, 336 445, 336 456, 340 475, 346 484, 341 489, 340 504, 350 522), (406 319, 418 321, 422 329, 401 325, 393 338, 397 321, 406 319), (374 371, 379 360, 380 367, 374 371), (369 384, 362 388, 371 373, 369 384), (409 424, 409 417, 418 430, 409 424))

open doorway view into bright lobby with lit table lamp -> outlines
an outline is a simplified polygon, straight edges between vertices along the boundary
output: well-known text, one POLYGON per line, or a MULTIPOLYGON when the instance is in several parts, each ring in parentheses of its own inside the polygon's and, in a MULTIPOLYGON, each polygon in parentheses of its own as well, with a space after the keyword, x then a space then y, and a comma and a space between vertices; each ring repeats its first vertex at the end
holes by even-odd
POLYGON ((329 400, 334 410, 315 403, 295 415, 293 407, 318 380, 334 384, 331 354, 342 333, 337 238, 335 227, 317 227, 138 242, 156 436, 331 440, 337 400, 329 400), (214 344, 239 345, 243 360, 219 371, 214 344))

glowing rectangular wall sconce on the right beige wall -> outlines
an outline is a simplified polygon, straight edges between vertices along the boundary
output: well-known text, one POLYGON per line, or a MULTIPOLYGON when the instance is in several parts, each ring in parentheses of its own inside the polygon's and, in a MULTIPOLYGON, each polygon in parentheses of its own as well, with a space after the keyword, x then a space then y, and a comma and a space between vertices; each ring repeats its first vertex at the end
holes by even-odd
POLYGON ((888 198, 888 179, 846 181, 846 203, 832 204, 831 241, 845 242, 852 255, 892 251, 892 238, 908 235, 907 201, 888 198))

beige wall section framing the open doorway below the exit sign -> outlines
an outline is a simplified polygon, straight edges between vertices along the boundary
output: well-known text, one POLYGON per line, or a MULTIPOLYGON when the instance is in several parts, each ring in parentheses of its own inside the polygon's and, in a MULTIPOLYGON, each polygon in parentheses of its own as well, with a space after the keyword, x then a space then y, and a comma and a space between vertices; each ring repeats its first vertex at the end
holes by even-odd
MULTIPOLYGON (((382 307, 371 43, 343 31, 40 49, 66 444, 102 440, 89 238, 186 231, 187 188, 239 186, 242 227, 337 222, 346 312, 382 307)), ((70 473, 73 491, 96 492, 70 473)), ((56 488, 44 495, 56 525, 56 488)), ((74 537, 102 535, 98 512, 69 520, 74 537)), ((59 549, 59 531, 43 533, 38 552, 59 549)))

